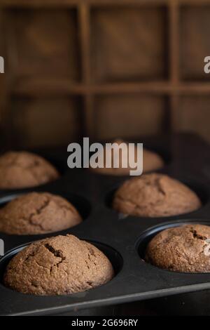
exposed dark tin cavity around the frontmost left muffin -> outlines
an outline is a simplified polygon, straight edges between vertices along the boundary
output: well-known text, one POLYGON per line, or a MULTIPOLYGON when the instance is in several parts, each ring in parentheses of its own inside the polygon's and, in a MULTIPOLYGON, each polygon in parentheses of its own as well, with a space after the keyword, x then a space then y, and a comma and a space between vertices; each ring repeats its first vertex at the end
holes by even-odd
MULTIPOLYGON (((120 255, 120 253, 118 253, 118 251, 116 251, 115 249, 111 248, 111 246, 108 246, 106 244, 102 244, 99 242, 92 242, 88 239, 85 239, 86 242, 89 242, 90 244, 94 245, 97 247, 97 249, 99 249, 100 251, 102 251, 105 256, 109 259, 109 261, 111 262, 112 266, 113 266, 113 270, 114 270, 114 277, 116 277, 116 275, 118 275, 118 273, 120 272, 120 270, 123 268, 123 258, 120 255)), ((0 282, 1 285, 4 286, 3 284, 3 275, 4 272, 6 271, 6 267, 8 265, 8 263, 10 262, 10 260, 16 255, 18 254, 20 251, 22 251, 22 249, 25 249, 29 244, 24 244, 21 246, 16 247, 15 249, 12 249, 10 251, 8 251, 8 253, 6 253, 5 256, 3 256, 3 258, 1 258, 0 260, 0 282)), ((106 285, 106 284, 103 284, 106 285)), ((33 298, 33 296, 31 296, 31 298, 33 298)))

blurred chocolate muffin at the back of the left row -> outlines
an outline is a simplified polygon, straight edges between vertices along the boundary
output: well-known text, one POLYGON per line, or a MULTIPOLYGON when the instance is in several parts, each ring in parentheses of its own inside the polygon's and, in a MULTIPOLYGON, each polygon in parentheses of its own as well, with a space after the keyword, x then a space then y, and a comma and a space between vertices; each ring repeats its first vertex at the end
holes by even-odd
POLYGON ((30 152, 6 152, 0 157, 0 189, 43 185, 59 178, 48 161, 30 152))

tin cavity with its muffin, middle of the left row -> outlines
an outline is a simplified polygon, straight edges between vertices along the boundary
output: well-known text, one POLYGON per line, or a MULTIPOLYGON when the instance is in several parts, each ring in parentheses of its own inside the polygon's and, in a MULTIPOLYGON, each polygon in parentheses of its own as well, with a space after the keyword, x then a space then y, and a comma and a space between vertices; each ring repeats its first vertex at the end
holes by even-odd
POLYGON ((38 193, 43 196, 37 196, 37 192, 22 192, 0 198, 0 211, 8 205, 7 211, 2 213, 2 227, 0 227, 0 238, 4 242, 4 251, 12 249, 17 243, 23 244, 44 236, 59 235, 61 232, 65 235, 69 231, 75 230, 78 225, 83 225, 83 220, 90 216, 91 205, 85 197, 58 191, 38 191, 38 193), (22 197, 22 199, 15 204, 8 204, 18 197, 22 197), (71 206, 66 201, 71 203, 71 206), (31 205, 32 211, 27 207, 28 203, 31 205), (17 212, 15 208, 17 208, 17 212), (5 212, 11 220, 9 218, 7 220, 5 212))

